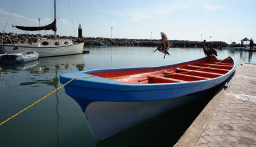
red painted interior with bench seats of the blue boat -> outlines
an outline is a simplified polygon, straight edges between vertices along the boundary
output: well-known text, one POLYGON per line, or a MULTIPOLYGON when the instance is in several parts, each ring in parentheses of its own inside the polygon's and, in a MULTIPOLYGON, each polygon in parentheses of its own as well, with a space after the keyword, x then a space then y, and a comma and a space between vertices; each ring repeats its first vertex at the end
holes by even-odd
POLYGON ((230 57, 224 60, 211 57, 161 68, 108 71, 92 75, 129 84, 180 83, 216 78, 228 73, 232 67, 234 62, 230 57))

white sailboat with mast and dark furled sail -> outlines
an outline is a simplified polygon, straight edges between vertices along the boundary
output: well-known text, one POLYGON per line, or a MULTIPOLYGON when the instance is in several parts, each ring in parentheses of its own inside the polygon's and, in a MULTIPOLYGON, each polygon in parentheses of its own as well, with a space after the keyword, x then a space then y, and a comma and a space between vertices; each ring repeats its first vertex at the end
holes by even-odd
POLYGON ((3 53, 37 52, 40 57, 51 57, 60 55, 72 55, 83 53, 84 43, 73 43, 72 39, 56 39, 56 0, 54 0, 54 21, 41 27, 13 26, 24 31, 54 31, 54 39, 30 39, 25 43, 1 45, 3 53))

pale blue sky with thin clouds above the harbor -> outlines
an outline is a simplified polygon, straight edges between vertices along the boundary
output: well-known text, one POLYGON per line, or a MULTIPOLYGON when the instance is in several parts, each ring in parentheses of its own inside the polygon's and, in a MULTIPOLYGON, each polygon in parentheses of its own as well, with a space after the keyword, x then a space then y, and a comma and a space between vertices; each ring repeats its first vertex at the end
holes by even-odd
MULTIPOLYGON (((42 26, 54 20, 53 0, 1 0, 0 31, 12 25, 42 26), (40 22, 38 21, 40 18, 40 22)), ((57 0, 57 34, 83 37, 225 41, 256 39, 255 0, 57 0), (111 29, 112 28, 112 29, 111 29)))

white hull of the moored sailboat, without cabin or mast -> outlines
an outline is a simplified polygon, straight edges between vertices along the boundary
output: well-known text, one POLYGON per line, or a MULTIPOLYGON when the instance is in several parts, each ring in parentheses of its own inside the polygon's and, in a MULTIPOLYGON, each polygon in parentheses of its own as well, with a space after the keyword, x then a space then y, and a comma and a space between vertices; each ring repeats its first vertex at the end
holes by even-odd
POLYGON ((4 45, 3 51, 5 53, 20 53, 35 51, 40 57, 51 57, 59 55, 73 55, 78 53, 83 53, 84 43, 58 46, 58 47, 28 47, 28 46, 18 46, 18 45, 4 45))

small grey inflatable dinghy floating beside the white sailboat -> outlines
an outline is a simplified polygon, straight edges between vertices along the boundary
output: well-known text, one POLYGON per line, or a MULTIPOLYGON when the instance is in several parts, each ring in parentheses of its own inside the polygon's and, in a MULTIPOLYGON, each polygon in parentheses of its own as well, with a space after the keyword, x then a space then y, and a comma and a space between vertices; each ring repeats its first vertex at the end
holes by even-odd
POLYGON ((21 53, 6 53, 0 56, 0 62, 3 63, 24 63, 33 60, 37 60, 39 58, 38 53, 34 51, 29 52, 21 52, 21 53))

